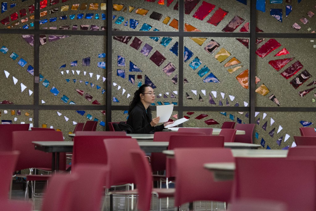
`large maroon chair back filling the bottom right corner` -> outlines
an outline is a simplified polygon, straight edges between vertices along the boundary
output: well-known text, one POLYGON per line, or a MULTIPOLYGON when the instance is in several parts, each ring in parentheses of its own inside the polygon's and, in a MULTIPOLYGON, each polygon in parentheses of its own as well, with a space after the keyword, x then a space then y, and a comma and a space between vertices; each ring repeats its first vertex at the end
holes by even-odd
POLYGON ((237 157, 234 195, 237 200, 277 200, 288 211, 316 210, 315 175, 312 160, 237 157))

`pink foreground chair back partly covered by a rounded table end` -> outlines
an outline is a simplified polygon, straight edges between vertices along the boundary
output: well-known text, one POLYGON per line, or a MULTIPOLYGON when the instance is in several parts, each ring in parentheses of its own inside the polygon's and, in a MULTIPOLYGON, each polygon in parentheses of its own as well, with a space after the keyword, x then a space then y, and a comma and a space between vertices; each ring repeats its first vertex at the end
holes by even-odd
POLYGON ((174 150, 177 166, 174 205, 193 201, 230 201, 233 181, 214 181, 204 163, 234 162, 230 149, 187 148, 174 150))

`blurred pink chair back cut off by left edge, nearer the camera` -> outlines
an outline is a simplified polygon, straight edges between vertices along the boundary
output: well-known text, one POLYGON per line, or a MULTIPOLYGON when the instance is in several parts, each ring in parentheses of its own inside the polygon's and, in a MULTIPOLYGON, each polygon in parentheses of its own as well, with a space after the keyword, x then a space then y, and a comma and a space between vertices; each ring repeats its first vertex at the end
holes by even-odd
POLYGON ((0 199, 8 199, 12 175, 19 157, 19 151, 0 151, 0 199))

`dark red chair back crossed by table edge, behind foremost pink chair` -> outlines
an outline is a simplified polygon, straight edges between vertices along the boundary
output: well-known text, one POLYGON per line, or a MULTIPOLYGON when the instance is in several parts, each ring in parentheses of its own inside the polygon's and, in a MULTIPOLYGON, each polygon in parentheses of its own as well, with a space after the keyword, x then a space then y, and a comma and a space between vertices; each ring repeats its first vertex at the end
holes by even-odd
MULTIPOLYGON (((178 148, 211 148, 211 147, 224 147, 223 136, 209 136, 209 135, 180 135, 171 136, 169 140, 168 150, 178 148)), ((176 164, 173 158, 166 160, 166 177, 175 177, 176 164)))

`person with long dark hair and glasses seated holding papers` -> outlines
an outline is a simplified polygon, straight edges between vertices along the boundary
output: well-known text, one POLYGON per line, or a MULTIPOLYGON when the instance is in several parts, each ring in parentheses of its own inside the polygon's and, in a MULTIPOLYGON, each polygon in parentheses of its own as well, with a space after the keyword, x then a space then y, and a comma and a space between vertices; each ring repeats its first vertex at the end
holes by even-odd
POLYGON ((162 131, 165 126, 173 123, 166 122, 163 125, 158 125, 160 117, 151 117, 149 105, 155 102, 155 92, 149 85, 144 84, 134 93, 134 98, 130 102, 128 110, 129 117, 126 124, 131 125, 134 133, 154 133, 162 131))

